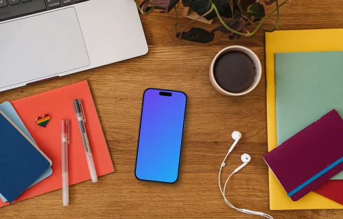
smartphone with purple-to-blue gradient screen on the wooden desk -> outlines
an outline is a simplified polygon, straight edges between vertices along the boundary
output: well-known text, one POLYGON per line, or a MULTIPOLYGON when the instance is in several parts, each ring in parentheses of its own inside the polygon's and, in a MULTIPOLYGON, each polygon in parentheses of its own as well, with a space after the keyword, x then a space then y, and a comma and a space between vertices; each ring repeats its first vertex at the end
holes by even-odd
POLYGON ((178 179, 187 96, 148 88, 143 94, 137 147, 137 179, 174 183, 178 179))

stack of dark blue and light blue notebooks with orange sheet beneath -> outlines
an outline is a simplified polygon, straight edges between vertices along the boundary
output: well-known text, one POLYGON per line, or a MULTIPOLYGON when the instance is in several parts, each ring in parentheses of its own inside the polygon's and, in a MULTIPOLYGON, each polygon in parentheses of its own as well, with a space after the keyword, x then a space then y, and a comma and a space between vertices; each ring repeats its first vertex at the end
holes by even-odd
POLYGON ((62 188, 60 120, 70 120, 69 185, 91 179, 74 99, 84 105, 98 177, 114 172, 87 81, 5 102, 0 104, 0 207, 62 188), (44 114, 49 123, 36 123, 44 114))

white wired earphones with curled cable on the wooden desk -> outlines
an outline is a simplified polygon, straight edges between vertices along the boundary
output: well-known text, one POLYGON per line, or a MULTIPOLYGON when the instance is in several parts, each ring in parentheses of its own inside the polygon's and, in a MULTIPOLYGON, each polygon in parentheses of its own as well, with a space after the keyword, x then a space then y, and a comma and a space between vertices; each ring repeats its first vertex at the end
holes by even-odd
POLYGON ((222 189, 222 185, 220 185, 220 173, 222 172, 222 168, 224 168, 225 166, 225 161, 226 158, 228 157, 228 155, 231 153, 231 151, 233 151, 233 149, 235 148, 237 142, 241 139, 241 133, 239 131, 234 131, 231 135, 233 137, 233 140, 235 140, 235 142, 233 142, 233 146, 230 147, 230 149, 228 150, 228 153, 226 154, 224 161, 222 162, 222 165, 220 166, 220 170, 219 170, 219 175, 218 175, 218 184, 219 184, 219 188, 220 188, 220 192, 222 192, 222 195, 224 197, 224 201, 226 203, 226 205, 228 205, 229 207, 236 209, 237 211, 240 211, 242 213, 245 214, 252 214, 252 215, 257 215, 257 216, 263 216, 265 218, 270 218, 273 219, 272 216, 270 216, 269 214, 264 214, 263 212, 259 212, 259 211, 250 211, 248 209, 242 209, 242 208, 237 208, 235 206, 233 206, 233 204, 231 204, 225 196, 225 189, 226 189, 226 185, 228 184, 228 179, 230 179, 230 177, 232 175, 234 175, 236 172, 238 172, 239 170, 241 170, 241 168, 244 168, 244 166, 248 165, 248 163, 251 160, 250 155, 248 155, 247 153, 244 153, 243 155, 241 155, 241 161, 243 162, 243 164, 241 164, 241 166, 239 166, 237 169, 235 169, 233 171, 233 173, 230 174, 230 176, 228 176, 228 179, 226 179, 224 188, 222 189))

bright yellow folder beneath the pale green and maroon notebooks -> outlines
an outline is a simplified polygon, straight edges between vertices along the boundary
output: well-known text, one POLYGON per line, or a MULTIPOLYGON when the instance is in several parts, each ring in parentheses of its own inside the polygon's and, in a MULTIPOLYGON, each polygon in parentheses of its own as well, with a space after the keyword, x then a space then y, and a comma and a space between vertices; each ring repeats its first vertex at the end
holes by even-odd
MULTIPOLYGON (((276 106, 274 54, 288 52, 343 51, 343 29, 309 29, 274 31, 265 34, 267 77, 268 151, 276 148, 276 106)), ((343 209, 343 205, 310 192, 299 201, 292 201, 269 170, 270 209, 343 209)))

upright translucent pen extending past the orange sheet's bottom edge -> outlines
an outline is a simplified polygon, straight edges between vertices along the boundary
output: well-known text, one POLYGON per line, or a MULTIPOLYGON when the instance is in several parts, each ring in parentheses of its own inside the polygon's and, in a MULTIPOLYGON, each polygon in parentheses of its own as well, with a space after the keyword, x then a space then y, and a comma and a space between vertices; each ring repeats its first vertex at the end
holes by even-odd
POLYGON ((70 144, 69 120, 61 120, 62 145, 62 202, 69 205, 68 144, 70 144))

